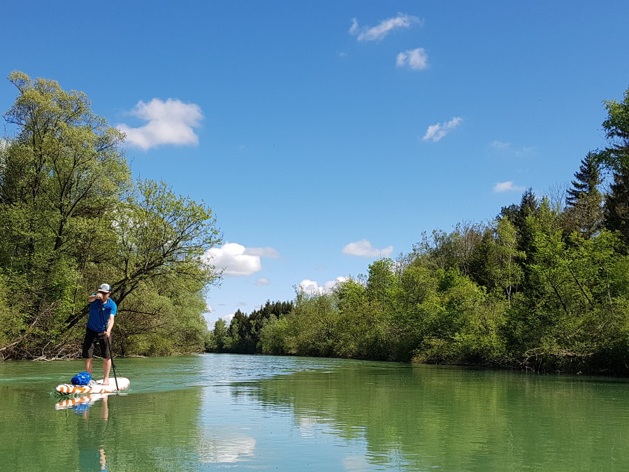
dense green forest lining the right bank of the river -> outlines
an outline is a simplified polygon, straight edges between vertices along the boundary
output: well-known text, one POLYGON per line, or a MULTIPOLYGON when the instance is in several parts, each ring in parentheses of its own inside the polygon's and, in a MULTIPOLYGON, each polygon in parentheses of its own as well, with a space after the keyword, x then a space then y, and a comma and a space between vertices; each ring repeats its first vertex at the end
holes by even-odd
POLYGON ((629 375, 629 90, 604 103, 607 147, 565 194, 528 189, 329 293, 219 320, 210 350, 629 375))

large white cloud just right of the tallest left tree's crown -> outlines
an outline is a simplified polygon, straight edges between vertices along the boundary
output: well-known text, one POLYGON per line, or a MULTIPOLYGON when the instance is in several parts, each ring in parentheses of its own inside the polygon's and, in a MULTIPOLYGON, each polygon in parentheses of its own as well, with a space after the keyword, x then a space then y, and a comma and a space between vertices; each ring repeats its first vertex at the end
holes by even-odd
POLYGON ((138 128, 124 123, 117 125, 131 145, 147 150, 163 144, 198 144, 194 128, 201 123, 203 113, 195 103, 173 99, 152 99, 148 103, 140 100, 131 110, 131 115, 147 121, 147 124, 138 128))

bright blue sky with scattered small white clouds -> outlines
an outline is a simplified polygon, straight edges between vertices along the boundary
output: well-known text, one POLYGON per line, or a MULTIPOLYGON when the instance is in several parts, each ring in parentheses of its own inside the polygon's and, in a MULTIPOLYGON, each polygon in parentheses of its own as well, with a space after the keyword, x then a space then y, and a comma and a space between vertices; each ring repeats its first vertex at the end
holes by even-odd
MULTIPOLYGON (((208 321, 570 182, 629 86, 626 1, 29 1, 0 58, 81 90, 214 210, 208 321)), ((0 82, 0 105, 15 90, 0 82)), ((8 131, 8 128, 5 128, 8 131)))

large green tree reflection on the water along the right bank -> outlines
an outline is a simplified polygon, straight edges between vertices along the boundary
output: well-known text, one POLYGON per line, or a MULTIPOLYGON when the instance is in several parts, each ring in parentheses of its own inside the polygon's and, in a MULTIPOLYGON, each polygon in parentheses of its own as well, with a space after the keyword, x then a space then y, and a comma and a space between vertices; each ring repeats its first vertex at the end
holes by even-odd
POLYGON ((348 363, 233 385, 233 395, 250 396, 263 408, 289 408, 301 436, 366 441, 364 457, 343 459, 347 470, 601 470, 629 464, 620 447, 629 441, 627 384, 603 385, 348 363))

